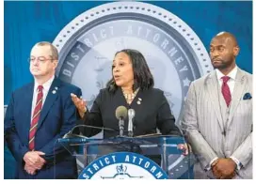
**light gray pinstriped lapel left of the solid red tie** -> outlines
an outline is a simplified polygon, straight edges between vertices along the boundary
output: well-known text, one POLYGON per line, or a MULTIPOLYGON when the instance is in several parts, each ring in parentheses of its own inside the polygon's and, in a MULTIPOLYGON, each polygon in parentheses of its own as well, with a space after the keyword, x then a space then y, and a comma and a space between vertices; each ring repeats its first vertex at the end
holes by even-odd
POLYGON ((218 100, 218 83, 216 79, 216 70, 214 70, 208 78, 206 78, 206 88, 207 92, 210 96, 210 99, 213 103, 214 111, 216 112, 216 118, 219 123, 221 130, 224 130, 223 119, 221 116, 220 108, 219 108, 219 100, 218 100))

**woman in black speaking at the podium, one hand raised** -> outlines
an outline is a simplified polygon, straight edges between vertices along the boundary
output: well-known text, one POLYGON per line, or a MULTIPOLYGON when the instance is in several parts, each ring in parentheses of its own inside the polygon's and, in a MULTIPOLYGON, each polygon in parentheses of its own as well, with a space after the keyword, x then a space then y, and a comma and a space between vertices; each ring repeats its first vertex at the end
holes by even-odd
MULTIPOLYGON (((164 135, 182 135, 164 92, 153 88, 153 84, 152 73, 141 53, 131 49, 118 52, 112 63, 112 79, 100 90, 90 111, 85 100, 72 94, 72 101, 81 116, 80 124, 111 129, 104 130, 104 138, 109 138, 120 134, 120 117, 123 117, 121 129, 123 135, 128 135, 131 119, 126 111, 133 109, 133 136, 154 134, 157 129, 164 135)), ((101 131, 80 130, 88 137, 101 131)))

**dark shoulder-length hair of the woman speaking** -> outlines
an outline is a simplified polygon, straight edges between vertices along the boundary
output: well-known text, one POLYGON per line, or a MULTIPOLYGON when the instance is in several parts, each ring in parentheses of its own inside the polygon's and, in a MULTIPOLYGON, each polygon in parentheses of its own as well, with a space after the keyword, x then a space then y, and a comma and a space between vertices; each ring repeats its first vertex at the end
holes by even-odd
MULTIPOLYGON (((131 59, 133 70, 134 70, 134 81, 135 81, 133 90, 135 91, 138 87, 140 88, 140 90, 152 88, 154 84, 152 72, 149 69, 149 66, 143 54, 133 49, 124 49, 117 52, 115 56, 120 53, 127 54, 131 59)), ((113 69, 112 69, 112 79, 106 84, 106 88, 108 88, 108 90, 113 93, 116 92, 116 90, 118 89, 118 85, 115 83, 115 80, 113 77, 113 69)))

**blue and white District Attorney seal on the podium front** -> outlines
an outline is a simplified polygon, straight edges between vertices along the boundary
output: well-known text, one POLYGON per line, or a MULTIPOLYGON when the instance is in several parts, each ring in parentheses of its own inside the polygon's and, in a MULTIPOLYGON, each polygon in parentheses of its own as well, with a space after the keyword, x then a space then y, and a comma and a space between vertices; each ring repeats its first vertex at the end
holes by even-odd
POLYGON ((92 161, 79 179, 168 179, 154 161, 131 152, 117 152, 92 161))

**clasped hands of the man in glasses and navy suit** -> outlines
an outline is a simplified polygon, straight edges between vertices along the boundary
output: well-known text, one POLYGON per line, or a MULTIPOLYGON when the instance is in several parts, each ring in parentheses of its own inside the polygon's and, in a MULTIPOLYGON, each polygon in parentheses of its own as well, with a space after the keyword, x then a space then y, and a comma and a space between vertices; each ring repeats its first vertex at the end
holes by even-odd
POLYGON ((24 170, 29 175, 35 175, 37 170, 40 170, 46 162, 40 155, 45 154, 41 151, 28 151, 24 154, 24 170))

